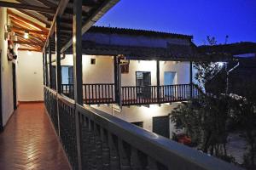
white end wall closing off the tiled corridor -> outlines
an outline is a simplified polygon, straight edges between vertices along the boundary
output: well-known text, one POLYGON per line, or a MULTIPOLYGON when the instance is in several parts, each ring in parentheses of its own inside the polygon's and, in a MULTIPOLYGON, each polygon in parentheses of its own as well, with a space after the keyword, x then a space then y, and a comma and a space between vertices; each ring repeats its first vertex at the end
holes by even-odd
POLYGON ((44 100, 43 54, 19 51, 17 84, 19 101, 44 100))

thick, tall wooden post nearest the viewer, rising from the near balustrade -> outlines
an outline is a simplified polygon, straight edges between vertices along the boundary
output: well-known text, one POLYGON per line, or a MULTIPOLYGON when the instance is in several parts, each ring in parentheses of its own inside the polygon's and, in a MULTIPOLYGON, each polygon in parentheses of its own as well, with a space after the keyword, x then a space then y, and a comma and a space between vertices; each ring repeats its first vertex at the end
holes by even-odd
MULTIPOLYGON (((83 78, 82 78, 82 1, 73 1, 73 78, 74 99, 76 105, 83 105, 83 78)), ((79 111, 75 109, 76 137, 78 149, 79 170, 82 169, 81 158, 81 124, 79 111)))

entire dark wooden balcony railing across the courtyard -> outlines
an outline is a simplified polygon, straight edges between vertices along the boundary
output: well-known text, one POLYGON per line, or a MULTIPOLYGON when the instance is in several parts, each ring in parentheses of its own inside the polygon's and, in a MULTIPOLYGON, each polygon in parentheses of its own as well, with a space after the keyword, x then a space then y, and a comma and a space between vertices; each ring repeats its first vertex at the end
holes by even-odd
MULTIPOLYGON (((73 84, 62 84, 62 94, 73 99, 73 84)), ((122 105, 150 105, 195 99, 200 90, 194 84, 160 86, 125 86, 121 88, 122 105), (159 92, 159 95, 158 95, 159 92)), ((86 105, 113 104, 113 83, 83 84, 83 99, 86 105)))

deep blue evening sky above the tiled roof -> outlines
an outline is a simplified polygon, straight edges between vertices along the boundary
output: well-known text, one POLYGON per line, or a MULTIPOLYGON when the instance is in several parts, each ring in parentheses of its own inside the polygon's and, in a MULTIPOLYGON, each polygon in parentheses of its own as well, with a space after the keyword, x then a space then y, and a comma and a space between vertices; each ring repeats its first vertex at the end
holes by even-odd
POLYGON ((256 42, 256 0, 120 0, 96 25, 256 42))

